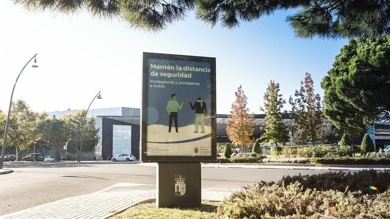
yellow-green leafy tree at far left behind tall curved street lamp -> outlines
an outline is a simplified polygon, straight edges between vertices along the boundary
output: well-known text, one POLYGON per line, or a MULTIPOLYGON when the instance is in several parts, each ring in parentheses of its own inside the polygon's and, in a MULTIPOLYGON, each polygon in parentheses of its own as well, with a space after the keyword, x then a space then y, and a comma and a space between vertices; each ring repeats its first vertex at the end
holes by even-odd
POLYGON ((6 146, 15 148, 17 160, 20 159, 19 148, 30 150, 32 141, 37 140, 35 126, 38 121, 39 114, 32 111, 25 101, 12 102, 6 146))

